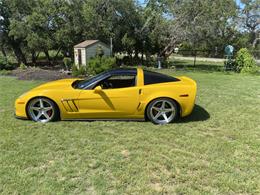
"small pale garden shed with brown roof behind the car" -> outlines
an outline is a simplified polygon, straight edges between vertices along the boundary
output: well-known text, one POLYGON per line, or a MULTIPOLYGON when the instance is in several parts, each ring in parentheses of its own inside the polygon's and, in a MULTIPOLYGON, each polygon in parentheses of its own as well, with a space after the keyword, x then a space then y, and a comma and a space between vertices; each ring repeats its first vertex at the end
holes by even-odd
POLYGON ((86 40, 74 46, 74 62, 80 67, 86 66, 88 60, 97 55, 98 50, 102 50, 104 56, 110 56, 110 47, 99 40, 86 40))

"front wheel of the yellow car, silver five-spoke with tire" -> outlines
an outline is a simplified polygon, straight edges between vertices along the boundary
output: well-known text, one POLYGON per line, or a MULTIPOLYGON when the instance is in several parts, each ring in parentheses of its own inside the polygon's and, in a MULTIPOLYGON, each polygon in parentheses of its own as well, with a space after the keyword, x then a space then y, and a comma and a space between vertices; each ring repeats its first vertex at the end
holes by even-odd
POLYGON ((52 100, 44 97, 37 97, 29 102, 27 114, 33 121, 46 123, 58 119, 59 109, 52 100))

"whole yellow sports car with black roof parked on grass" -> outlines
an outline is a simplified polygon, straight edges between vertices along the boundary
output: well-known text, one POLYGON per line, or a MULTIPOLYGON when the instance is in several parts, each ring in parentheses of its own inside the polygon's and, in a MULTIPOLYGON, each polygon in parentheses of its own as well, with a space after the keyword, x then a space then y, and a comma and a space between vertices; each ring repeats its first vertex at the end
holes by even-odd
POLYGON ((90 79, 49 82, 21 95, 17 118, 39 122, 81 119, 147 119, 167 124, 192 112, 196 82, 157 72, 115 69, 90 79))

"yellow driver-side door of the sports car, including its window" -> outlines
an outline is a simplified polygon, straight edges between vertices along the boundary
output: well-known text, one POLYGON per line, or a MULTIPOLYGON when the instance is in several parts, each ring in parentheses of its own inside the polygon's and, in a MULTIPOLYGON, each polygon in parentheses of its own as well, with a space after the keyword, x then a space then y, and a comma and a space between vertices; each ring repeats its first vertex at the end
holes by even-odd
POLYGON ((112 75, 93 88, 80 92, 78 105, 82 118, 127 118, 136 112, 139 87, 135 76, 112 75))

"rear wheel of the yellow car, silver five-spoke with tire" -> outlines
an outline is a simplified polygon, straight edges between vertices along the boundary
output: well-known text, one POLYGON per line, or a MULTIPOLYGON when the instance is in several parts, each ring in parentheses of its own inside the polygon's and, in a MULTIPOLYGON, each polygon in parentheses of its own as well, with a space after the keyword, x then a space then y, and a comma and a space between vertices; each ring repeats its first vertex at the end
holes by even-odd
POLYGON ((154 124, 168 124, 177 118, 178 107, 172 99, 158 98, 148 105, 146 114, 154 124))

